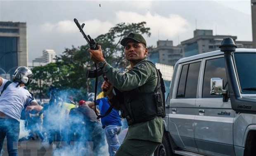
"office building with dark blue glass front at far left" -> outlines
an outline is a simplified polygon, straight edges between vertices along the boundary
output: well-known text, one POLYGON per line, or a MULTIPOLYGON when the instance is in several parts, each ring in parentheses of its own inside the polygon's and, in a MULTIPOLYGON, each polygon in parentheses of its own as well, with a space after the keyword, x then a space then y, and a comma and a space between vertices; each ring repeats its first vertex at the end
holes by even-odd
POLYGON ((0 21, 0 74, 12 75, 18 66, 28 66, 26 23, 0 21))

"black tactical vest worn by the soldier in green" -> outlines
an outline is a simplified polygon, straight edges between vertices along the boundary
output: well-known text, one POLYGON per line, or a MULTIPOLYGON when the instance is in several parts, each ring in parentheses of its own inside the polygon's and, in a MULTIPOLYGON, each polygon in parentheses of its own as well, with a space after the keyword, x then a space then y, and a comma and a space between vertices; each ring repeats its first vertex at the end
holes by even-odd
MULTIPOLYGON (((155 67, 152 62, 147 62, 155 67)), ((156 72, 158 80, 154 92, 123 92, 123 104, 120 108, 122 117, 127 119, 128 125, 149 121, 156 116, 165 117, 164 80, 160 70, 156 69, 156 72)))

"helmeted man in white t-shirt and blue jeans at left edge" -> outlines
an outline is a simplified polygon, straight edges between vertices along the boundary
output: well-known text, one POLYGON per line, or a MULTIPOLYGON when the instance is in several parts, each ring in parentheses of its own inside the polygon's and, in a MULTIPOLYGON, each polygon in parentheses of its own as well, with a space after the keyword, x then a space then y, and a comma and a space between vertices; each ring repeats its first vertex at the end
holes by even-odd
POLYGON ((21 111, 33 113, 43 109, 27 89, 33 80, 33 73, 26 66, 18 67, 11 83, 0 77, 0 153, 7 137, 7 151, 9 156, 18 156, 19 121, 21 111), (6 84, 9 84, 8 86, 6 84))

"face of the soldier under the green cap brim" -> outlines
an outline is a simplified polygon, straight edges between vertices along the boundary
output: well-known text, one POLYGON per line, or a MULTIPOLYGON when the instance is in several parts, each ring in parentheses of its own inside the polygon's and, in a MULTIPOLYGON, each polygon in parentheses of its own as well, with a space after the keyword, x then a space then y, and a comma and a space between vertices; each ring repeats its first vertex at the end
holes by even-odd
POLYGON ((125 46, 125 55, 128 61, 138 61, 143 59, 148 50, 143 43, 128 41, 125 46))

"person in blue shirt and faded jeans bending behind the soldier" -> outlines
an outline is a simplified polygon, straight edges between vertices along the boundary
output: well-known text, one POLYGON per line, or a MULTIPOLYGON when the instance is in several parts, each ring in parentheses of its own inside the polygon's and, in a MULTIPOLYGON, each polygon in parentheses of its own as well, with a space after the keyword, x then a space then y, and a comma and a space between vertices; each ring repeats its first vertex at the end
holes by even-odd
MULTIPOLYGON (((104 115, 109 109, 110 105, 106 95, 103 98, 96 100, 96 105, 99 106, 100 114, 104 115)), ((94 102, 88 104, 90 108, 95 106, 94 102)), ((92 108, 93 109, 93 108, 92 108)), ((116 151, 120 147, 120 142, 118 135, 122 130, 121 117, 119 116, 119 111, 112 109, 112 111, 101 118, 102 128, 104 128, 107 143, 109 145, 109 156, 114 156, 116 151)))

